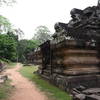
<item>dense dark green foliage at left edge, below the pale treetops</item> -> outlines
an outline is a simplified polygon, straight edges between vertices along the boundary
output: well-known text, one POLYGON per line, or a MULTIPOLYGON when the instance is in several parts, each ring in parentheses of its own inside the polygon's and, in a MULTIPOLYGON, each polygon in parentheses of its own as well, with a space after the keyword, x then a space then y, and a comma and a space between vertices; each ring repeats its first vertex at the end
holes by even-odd
POLYGON ((0 34, 0 58, 16 60, 17 43, 11 36, 7 34, 0 34))

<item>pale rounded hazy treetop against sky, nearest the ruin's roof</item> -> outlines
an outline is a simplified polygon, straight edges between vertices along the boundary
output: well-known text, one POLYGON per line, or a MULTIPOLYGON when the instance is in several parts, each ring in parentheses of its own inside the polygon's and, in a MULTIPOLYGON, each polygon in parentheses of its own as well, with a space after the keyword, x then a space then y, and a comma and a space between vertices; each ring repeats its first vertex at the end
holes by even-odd
POLYGON ((51 39, 51 32, 46 26, 38 26, 35 31, 36 33, 33 40, 38 40, 40 44, 44 43, 48 39, 51 39))

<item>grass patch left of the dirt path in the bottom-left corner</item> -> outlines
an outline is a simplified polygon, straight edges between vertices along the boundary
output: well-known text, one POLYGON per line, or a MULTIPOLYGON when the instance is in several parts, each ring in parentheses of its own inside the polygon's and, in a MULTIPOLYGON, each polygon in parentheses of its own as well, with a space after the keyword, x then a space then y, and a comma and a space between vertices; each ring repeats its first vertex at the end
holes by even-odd
POLYGON ((12 86, 10 81, 6 81, 4 84, 0 85, 0 100, 5 100, 10 95, 12 86))

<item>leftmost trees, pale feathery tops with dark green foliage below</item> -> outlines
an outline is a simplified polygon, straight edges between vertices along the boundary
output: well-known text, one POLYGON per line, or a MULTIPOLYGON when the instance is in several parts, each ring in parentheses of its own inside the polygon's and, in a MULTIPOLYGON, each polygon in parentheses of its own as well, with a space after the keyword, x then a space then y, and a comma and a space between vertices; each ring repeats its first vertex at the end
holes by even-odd
POLYGON ((17 60, 18 41, 23 34, 20 28, 14 29, 7 18, 0 16, 0 58, 17 60))

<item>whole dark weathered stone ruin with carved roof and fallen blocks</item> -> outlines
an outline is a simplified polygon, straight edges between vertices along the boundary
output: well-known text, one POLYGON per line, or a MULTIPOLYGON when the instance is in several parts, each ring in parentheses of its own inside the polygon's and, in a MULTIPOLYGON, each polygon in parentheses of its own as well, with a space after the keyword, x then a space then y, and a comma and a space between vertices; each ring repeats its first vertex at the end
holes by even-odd
POLYGON ((29 60, 73 100, 100 100, 100 0, 70 14, 69 23, 56 23, 53 40, 41 44, 29 60))

